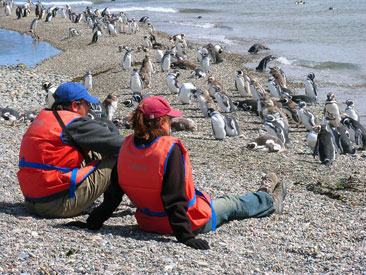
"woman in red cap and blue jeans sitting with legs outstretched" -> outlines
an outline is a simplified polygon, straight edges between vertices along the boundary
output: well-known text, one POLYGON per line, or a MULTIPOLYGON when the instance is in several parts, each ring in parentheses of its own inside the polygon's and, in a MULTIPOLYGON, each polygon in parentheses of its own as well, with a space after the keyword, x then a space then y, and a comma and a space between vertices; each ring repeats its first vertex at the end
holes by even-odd
POLYGON ((213 231, 231 220, 282 213, 286 184, 273 173, 254 193, 211 200, 208 194, 198 191, 187 149, 178 138, 170 136, 171 118, 181 115, 163 97, 143 99, 129 118, 134 133, 126 137, 119 152, 117 174, 121 188, 111 185, 86 223, 68 225, 99 229, 125 192, 137 208, 135 217, 140 229, 173 234, 189 247, 209 249, 208 242, 196 238, 197 234, 213 231))

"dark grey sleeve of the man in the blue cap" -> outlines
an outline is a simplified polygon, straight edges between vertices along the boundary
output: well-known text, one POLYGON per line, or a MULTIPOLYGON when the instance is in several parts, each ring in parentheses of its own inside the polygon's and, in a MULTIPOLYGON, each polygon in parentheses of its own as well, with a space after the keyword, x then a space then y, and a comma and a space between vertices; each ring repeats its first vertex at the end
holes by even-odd
MULTIPOLYGON (((81 148, 98 152, 102 156, 117 156, 124 140, 124 136, 115 130, 111 131, 108 125, 88 116, 73 121, 67 129, 81 148)), ((62 138, 65 142, 69 141, 65 134, 62 138)))

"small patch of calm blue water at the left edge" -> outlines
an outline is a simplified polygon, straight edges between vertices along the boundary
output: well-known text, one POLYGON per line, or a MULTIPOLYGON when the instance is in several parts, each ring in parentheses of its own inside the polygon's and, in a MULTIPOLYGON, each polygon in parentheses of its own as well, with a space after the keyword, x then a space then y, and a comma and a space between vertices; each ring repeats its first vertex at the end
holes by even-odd
POLYGON ((35 66, 61 52, 47 42, 35 42, 30 35, 0 29, 0 66, 24 63, 35 66))

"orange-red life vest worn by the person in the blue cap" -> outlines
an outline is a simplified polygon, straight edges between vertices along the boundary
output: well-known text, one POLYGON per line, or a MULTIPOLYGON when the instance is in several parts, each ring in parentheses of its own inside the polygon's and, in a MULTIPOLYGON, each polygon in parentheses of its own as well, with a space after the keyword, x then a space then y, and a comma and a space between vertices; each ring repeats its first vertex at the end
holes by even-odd
MULTIPOLYGON (((67 126, 81 115, 58 111, 67 126)), ((20 145, 18 181, 28 199, 42 199, 58 192, 70 191, 74 197, 80 184, 98 161, 81 167, 82 154, 62 140, 62 128, 50 110, 42 110, 23 136, 20 145)))

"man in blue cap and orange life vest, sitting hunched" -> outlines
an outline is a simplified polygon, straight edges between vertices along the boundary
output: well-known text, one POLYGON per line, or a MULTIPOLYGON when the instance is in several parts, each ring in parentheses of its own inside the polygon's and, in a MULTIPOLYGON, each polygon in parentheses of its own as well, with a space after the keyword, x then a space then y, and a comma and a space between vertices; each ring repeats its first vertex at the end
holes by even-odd
POLYGON ((87 115, 99 100, 83 85, 61 84, 54 98, 23 136, 17 175, 32 214, 66 218, 118 185, 115 164, 124 137, 113 123, 87 115))

